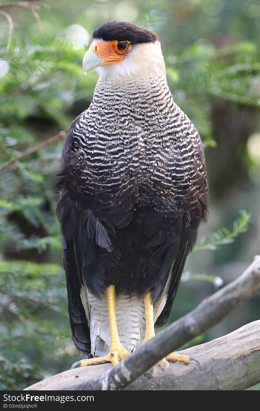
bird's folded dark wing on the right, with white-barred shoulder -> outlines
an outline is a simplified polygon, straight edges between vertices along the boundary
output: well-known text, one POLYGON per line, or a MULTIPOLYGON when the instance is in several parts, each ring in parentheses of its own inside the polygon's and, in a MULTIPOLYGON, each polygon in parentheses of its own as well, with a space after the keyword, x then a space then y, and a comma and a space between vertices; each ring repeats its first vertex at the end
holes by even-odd
MULTIPOLYGON (((163 310, 159 310, 161 314, 156 320, 158 327, 163 326, 168 320, 186 258, 196 242, 198 226, 207 219, 209 196, 204 151, 196 128, 186 115, 184 116, 186 124, 188 122, 189 125, 185 130, 188 138, 186 143, 182 144, 181 152, 175 155, 174 161, 173 157, 169 158, 166 166, 166 169, 169 170, 168 177, 170 176, 173 182, 174 201, 168 207, 167 218, 162 220, 159 237, 157 234, 150 242, 153 246, 156 244, 159 247, 153 254, 153 259, 156 258, 156 253, 159 252, 160 255, 164 253, 159 271, 159 278, 164 279, 161 281, 164 290, 157 301, 157 307, 160 300, 167 299, 163 310), (193 142, 192 153, 191 141, 193 142), (182 158, 181 154, 183 155, 185 152, 185 146, 187 147, 186 153, 182 158), (185 163, 183 159, 185 159, 185 163), (186 161, 187 159, 189 162, 186 161), (185 173, 183 173, 183 169, 185 169, 185 173), (166 233, 164 240, 163 233, 166 233)), ((165 203, 166 201, 164 201, 165 203)), ((163 209, 163 205, 161 207, 157 205, 156 208, 163 209)), ((149 224, 151 226, 151 223, 149 224)))

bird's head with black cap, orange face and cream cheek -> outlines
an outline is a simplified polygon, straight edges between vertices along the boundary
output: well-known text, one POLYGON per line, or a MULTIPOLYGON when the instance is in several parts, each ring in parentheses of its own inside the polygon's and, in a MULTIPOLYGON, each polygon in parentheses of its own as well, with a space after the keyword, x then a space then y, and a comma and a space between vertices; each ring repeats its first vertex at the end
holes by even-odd
POLYGON ((165 72, 159 37, 125 21, 108 21, 92 33, 93 41, 83 58, 83 71, 98 68, 103 77, 149 76, 165 72))

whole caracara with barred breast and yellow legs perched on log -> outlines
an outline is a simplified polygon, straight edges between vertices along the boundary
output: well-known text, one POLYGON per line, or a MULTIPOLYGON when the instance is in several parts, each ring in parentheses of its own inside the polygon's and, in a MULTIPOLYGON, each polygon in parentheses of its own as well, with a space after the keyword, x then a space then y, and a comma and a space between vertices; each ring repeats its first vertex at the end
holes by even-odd
POLYGON ((102 24, 83 57, 92 69, 57 180, 71 333, 85 357, 73 367, 114 366, 166 324, 209 206, 202 142, 169 90, 158 35, 102 24))

